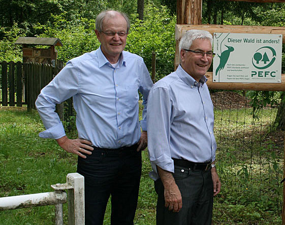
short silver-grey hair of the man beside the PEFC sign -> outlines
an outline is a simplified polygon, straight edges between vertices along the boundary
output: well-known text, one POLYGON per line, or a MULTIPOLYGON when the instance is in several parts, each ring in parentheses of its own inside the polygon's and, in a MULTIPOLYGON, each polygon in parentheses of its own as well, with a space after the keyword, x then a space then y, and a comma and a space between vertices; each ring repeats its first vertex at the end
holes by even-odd
POLYGON ((213 45, 213 36, 209 31, 187 30, 179 42, 179 52, 181 52, 181 49, 189 49, 196 39, 208 39, 211 42, 211 45, 213 45))

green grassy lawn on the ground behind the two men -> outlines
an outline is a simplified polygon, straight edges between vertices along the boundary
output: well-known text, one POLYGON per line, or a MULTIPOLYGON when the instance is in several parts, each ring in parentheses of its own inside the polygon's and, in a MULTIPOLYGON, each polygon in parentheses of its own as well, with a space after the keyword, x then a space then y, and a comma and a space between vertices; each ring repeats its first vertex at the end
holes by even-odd
MULTIPOLYGON (((250 111, 216 110, 217 166, 223 186, 214 200, 213 224, 281 223, 282 185, 278 181, 283 148, 267 139, 270 134, 264 125, 272 115, 268 110, 258 129, 252 128, 250 111), (237 117, 248 120, 236 123, 237 117)), ((51 192, 51 184, 65 183, 66 175, 76 171, 77 157, 63 151, 56 141, 39 138, 43 130, 37 111, 0 107, 0 197, 51 192)), ((144 151, 135 224, 155 224, 156 194, 150 170, 144 151)), ((65 224, 67 213, 64 204, 65 224)), ((104 225, 109 220, 110 204, 104 225)), ((54 224, 54 206, 2 211, 0 221, 3 225, 54 224)))

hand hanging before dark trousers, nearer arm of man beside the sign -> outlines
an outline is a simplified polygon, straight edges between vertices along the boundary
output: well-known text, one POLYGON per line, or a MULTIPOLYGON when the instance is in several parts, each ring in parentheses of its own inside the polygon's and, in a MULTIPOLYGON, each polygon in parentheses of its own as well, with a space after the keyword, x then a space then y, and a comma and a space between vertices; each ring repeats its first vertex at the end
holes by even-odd
POLYGON ((158 166, 156 168, 164 185, 165 207, 170 211, 179 212, 182 208, 182 197, 172 173, 158 166))

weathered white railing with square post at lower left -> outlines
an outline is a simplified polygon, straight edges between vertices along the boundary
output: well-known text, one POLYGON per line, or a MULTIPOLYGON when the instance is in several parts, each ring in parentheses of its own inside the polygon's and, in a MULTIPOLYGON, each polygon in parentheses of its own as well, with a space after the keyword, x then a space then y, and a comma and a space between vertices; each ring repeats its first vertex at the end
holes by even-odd
POLYGON ((53 184, 51 187, 54 192, 0 198, 0 211, 55 205, 55 224, 63 225, 62 204, 68 202, 69 225, 85 224, 84 176, 69 173, 66 183, 53 184))

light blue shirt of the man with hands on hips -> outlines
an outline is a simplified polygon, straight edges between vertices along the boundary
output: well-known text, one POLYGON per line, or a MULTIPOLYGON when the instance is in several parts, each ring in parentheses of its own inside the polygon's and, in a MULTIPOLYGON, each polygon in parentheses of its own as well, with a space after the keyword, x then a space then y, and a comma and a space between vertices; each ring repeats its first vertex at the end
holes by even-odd
POLYGON ((101 48, 70 60, 42 89, 36 106, 46 128, 40 137, 66 135, 54 112, 55 104, 73 97, 79 138, 101 148, 119 148, 137 143, 146 130, 146 103, 153 86, 143 59, 123 51, 114 68, 101 48), (139 94, 143 96, 139 123, 139 94))

